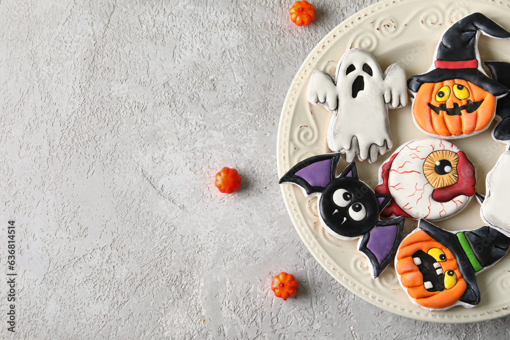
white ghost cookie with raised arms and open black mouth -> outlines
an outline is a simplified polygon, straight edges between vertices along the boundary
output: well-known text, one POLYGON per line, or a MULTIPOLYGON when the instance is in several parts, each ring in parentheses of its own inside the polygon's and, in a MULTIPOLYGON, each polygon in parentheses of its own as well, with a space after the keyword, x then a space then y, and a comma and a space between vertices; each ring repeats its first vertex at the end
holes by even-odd
POLYGON ((315 71, 308 84, 308 101, 333 111, 327 144, 347 162, 354 156, 375 162, 393 147, 388 108, 407 104, 405 71, 393 64, 383 74, 365 49, 348 50, 337 65, 336 77, 315 71))

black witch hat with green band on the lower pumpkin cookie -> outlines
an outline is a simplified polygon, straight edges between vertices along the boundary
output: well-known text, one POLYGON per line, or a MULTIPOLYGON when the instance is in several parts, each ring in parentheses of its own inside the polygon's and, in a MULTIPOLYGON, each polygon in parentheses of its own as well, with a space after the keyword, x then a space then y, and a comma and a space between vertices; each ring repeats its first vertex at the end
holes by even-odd
POLYGON ((510 247, 510 238, 488 226, 454 233, 420 220, 418 227, 452 252, 468 284, 459 301, 477 305, 480 302, 480 291, 475 275, 505 256, 510 247))

